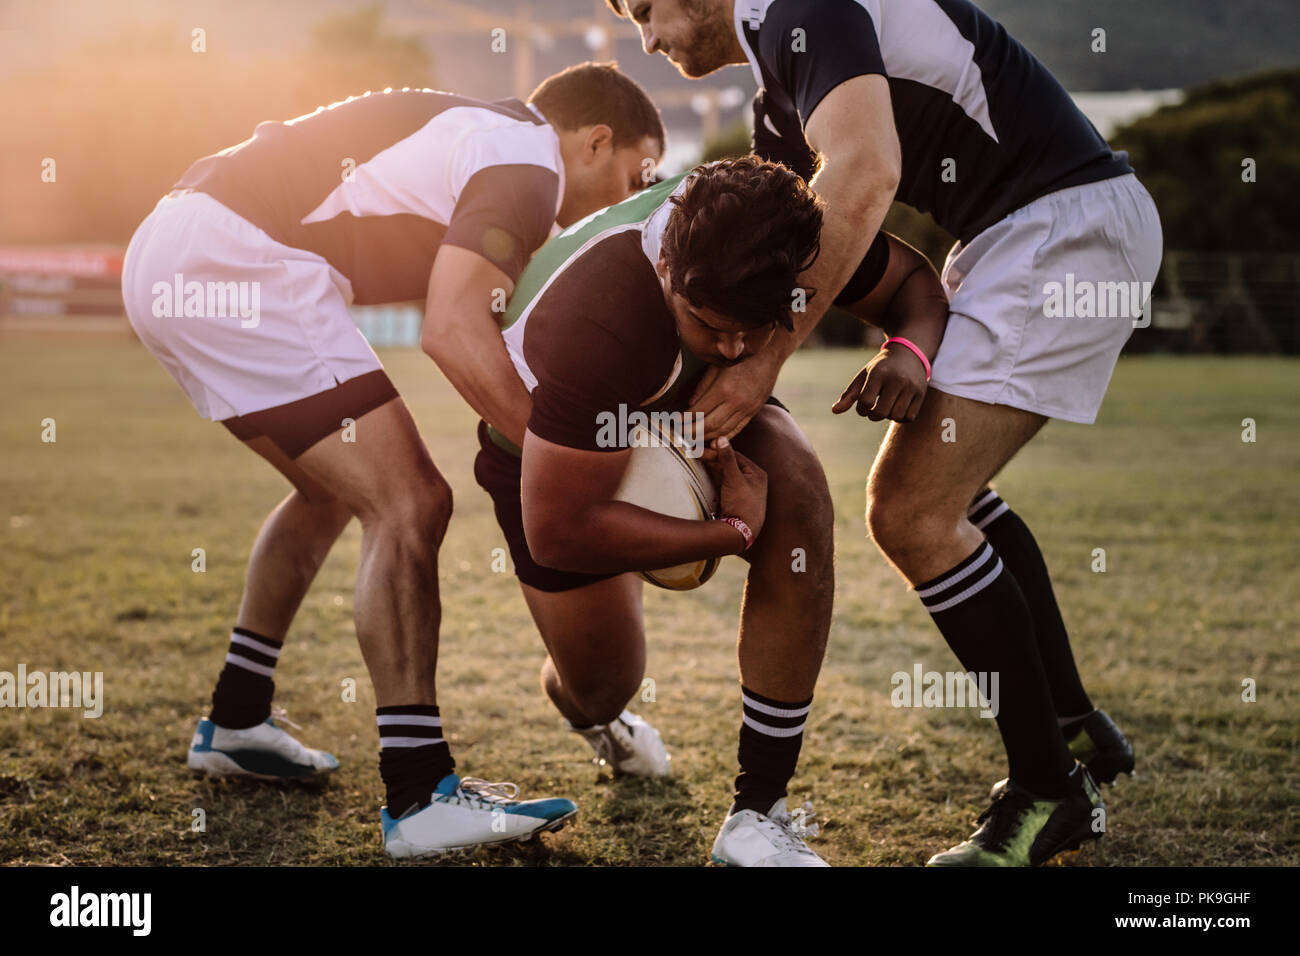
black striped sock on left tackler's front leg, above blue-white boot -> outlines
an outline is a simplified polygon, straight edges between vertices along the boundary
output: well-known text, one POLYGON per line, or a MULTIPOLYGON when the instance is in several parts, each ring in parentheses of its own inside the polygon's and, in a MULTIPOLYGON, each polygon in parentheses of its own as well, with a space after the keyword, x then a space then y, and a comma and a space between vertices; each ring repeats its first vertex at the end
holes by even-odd
POLYGON ((442 717, 432 704, 378 708, 380 777, 387 790, 390 817, 433 800, 438 782, 456 762, 442 736, 442 717))

